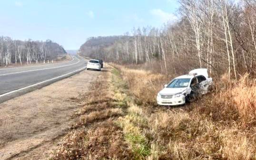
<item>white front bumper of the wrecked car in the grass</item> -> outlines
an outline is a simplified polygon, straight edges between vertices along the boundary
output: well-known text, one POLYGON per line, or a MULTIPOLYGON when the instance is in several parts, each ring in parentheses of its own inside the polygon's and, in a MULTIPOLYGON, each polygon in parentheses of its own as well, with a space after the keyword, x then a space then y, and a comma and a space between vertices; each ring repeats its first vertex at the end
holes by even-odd
POLYGON ((161 98, 160 96, 158 96, 157 101, 158 105, 161 106, 177 106, 186 103, 185 96, 180 96, 177 98, 161 98))

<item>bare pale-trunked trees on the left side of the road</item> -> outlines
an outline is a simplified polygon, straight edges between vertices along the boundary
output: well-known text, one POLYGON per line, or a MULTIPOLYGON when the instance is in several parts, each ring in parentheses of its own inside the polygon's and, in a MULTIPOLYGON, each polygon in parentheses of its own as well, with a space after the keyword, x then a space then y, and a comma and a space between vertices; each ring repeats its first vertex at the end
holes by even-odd
POLYGON ((63 53, 66 53, 63 47, 51 40, 20 41, 12 40, 10 37, 0 37, 0 66, 51 61, 58 54, 63 53))

